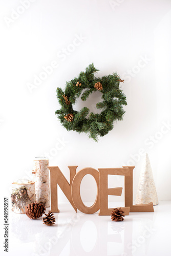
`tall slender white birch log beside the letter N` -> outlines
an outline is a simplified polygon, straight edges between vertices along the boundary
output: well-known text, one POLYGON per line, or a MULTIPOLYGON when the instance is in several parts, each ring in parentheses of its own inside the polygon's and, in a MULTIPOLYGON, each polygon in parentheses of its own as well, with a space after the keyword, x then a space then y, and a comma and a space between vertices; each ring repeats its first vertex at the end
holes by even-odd
POLYGON ((49 160, 37 158, 34 160, 33 180, 35 182, 36 202, 50 207, 49 160))

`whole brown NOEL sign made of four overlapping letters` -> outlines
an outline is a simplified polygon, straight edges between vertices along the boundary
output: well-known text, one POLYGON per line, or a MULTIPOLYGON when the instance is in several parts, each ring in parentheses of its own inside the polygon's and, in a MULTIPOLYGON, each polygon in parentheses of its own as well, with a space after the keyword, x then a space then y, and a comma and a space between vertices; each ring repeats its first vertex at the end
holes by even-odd
POLYGON ((78 166, 68 166, 70 170, 70 183, 62 174, 58 166, 49 166, 50 186, 51 186, 51 211, 59 212, 57 185, 61 188, 74 210, 77 209, 84 214, 94 214, 99 211, 99 215, 111 215, 113 208, 108 208, 108 195, 121 196, 122 187, 108 188, 108 175, 124 176, 124 215, 137 211, 154 211, 153 202, 148 204, 133 205, 133 169, 135 166, 123 166, 121 168, 83 168, 76 173, 78 166), (80 196, 80 185, 82 178, 90 174, 94 177, 97 184, 97 196, 94 204, 88 207, 83 204, 80 196))

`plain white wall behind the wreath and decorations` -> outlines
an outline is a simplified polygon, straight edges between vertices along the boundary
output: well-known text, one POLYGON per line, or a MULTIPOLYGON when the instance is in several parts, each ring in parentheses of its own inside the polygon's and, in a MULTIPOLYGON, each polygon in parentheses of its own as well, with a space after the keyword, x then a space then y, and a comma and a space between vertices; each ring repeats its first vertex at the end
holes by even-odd
MULTIPOLYGON (((146 151, 158 199, 171 200, 171 1, 0 2, 2 196, 10 196, 17 179, 31 179, 34 157, 47 156, 67 178, 68 165, 78 165, 77 170, 135 165, 135 199, 139 153, 146 151), (98 143, 67 132, 55 115, 56 88, 92 62, 98 76, 118 72, 127 97, 123 121, 98 143)), ((75 108, 95 111, 99 100, 97 92, 75 108)), ((123 177, 110 176, 109 186, 123 186, 123 177)), ((81 196, 84 202, 94 200, 92 177, 83 179, 81 196)), ((123 195, 109 200, 121 201, 123 195)), ((66 201, 60 191, 59 202, 66 201)))

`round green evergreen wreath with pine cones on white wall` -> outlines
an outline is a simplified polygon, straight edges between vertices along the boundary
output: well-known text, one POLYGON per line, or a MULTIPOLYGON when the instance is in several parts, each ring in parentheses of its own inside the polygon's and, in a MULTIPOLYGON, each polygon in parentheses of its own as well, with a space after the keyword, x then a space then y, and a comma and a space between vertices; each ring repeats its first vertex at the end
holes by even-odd
POLYGON ((66 82, 65 90, 57 88, 57 98, 61 109, 55 114, 58 115, 61 124, 67 131, 87 133, 89 138, 97 142, 97 136, 104 136, 113 129, 115 120, 122 120, 125 113, 123 105, 127 105, 126 97, 119 89, 119 83, 123 82, 117 73, 113 75, 95 77, 97 70, 93 63, 81 72, 73 80, 66 82), (101 110, 100 114, 90 113, 85 106, 79 112, 73 109, 76 99, 81 95, 81 100, 85 101, 90 94, 99 91, 102 93, 102 101, 96 104, 96 108, 101 110))

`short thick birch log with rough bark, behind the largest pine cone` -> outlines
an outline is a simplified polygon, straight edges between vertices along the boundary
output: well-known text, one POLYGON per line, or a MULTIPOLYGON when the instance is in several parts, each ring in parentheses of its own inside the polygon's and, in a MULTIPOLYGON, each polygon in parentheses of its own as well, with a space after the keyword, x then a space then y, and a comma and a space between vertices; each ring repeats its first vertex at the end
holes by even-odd
POLYGON ((12 211, 25 214, 25 206, 35 202, 35 186, 33 181, 13 182, 11 203, 12 211))

